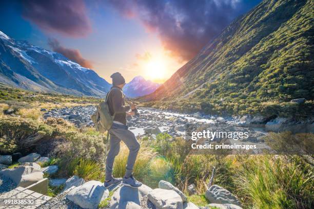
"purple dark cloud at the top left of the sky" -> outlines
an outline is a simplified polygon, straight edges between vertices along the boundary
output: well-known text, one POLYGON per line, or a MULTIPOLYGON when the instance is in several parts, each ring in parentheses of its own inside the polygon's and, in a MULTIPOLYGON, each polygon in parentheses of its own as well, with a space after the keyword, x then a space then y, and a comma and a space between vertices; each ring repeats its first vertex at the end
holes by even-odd
POLYGON ((23 17, 48 32, 82 37, 91 32, 83 0, 24 0, 23 17))

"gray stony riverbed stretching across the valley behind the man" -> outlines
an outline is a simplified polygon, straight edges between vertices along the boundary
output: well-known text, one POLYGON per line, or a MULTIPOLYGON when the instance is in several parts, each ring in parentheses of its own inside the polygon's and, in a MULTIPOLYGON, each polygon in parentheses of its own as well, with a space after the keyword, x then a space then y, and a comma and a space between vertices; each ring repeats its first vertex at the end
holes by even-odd
MULTIPOLYGON (((73 122, 77 127, 92 127, 90 116, 96 111, 95 106, 78 106, 53 109, 44 113, 44 118, 57 117, 73 122)), ((168 133, 172 137, 185 137, 186 125, 202 127, 210 131, 248 132, 248 142, 259 142, 267 133, 259 126, 243 127, 239 118, 223 118, 209 115, 181 114, 153 108, 139 108, 139 115, 128 118, 128 127, 135 136, 158 135, 168 133)))

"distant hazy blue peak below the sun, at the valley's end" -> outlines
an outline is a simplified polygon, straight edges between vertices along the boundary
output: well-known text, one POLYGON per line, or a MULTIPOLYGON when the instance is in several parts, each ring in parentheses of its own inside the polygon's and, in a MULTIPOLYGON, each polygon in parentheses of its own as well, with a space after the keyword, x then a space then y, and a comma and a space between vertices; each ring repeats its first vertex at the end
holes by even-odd
POLYGON ((136 76, 124 86, 123 91, 126 96, 134 98, 151 94, 158 87, 160 87, 159 83, 145 80, 142 76, 136 76))

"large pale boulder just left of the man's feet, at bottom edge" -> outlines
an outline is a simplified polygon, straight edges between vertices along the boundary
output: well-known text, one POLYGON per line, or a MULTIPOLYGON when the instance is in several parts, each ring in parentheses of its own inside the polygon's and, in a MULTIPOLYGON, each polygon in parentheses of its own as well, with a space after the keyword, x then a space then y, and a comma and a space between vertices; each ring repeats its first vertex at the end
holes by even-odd
POLYGON ((67 194, 67 199, 83 207, 94 209, 109 196, 109 191, 100 181, 88 181, 67 194))

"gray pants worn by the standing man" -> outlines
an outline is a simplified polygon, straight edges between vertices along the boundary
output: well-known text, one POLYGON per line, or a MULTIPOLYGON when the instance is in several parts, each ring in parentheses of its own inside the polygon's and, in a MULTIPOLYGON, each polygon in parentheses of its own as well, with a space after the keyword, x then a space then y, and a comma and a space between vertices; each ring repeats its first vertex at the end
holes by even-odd
POLYGON ((115 156, 120 151, 120 141, 122 140, 129 149, 129 156, 126 165, 125 177, 130 177, 133 172, 133 166, 140 150, 140 143, 135 135, 127 129, 126 126, 113 124, 110 129, 110 150, 106 161, 106 181, 112 178, 112 168, 115 156), (125 127, 125 128, 124 128, 125 127))

